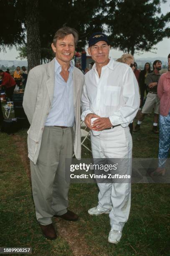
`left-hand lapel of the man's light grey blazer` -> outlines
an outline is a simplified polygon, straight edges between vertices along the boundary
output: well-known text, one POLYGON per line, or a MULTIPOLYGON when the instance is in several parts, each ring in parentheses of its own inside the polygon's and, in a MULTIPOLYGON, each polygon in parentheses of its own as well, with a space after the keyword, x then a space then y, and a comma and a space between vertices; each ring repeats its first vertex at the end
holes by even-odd
POLYGON ((55 80, 54 80, 55 79, 55 61, 54 61, 54 59, 48 63, 47 74, 48 74, 48 79, 46 81, 46 87, 47 87, 48 96, 50 98, 50 102, 52 104, 53 93, 54 93, 54 83, 55 83, 55 80))

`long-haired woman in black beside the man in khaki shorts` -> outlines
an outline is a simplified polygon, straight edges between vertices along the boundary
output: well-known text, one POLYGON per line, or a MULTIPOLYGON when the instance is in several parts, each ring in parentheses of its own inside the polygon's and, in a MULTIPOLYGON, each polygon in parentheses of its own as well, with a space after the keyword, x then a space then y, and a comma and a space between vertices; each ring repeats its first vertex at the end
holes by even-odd
POLYGON ((147 95, 147 93, 148 93, 147 85, 146 85, 146 77, 147 77, 147 74, 150 73, 150 72, 151 72, 151 70, 150 70, 150 64, 149 64, 149 62, 146 62, 144 69, 141 70, 140 75, 139 75, 139 85, 140 85, 140 110, 141 110, 142 105, 143 105, 143 99, 144 99, 145 92, 146 92, 146 95, 147 95))

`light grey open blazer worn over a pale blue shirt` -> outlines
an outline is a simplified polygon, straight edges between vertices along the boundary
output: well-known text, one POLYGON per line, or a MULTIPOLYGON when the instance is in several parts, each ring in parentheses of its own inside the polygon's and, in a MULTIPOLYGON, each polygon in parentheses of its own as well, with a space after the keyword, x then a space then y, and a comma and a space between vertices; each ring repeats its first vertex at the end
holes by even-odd
MULTIPOLYGON (((34 67, 28 74, 27 84, 23 97, 23 108, 30 123, 28 130, 28 157, 34 164, 38 159, 41 138, 50 112, 54 91, 54 59, 48 64, 34 67)), ((81 159, 81 131, 80 131, 80 100, 84 85, 84 74, 74 67, 74 153, 81 159)))

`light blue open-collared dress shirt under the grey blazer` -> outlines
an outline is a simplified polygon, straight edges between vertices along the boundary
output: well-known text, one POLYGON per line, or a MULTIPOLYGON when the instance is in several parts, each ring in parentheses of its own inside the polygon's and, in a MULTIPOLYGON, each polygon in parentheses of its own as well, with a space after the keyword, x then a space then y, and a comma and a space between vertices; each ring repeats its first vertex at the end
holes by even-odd
POLYGON ((51 110, 45 123, 47 126, 74 126, 73 69, 70 61, 69 78, 65 82, 60 74, 61 65, 55 58, 55 86, 51 110))

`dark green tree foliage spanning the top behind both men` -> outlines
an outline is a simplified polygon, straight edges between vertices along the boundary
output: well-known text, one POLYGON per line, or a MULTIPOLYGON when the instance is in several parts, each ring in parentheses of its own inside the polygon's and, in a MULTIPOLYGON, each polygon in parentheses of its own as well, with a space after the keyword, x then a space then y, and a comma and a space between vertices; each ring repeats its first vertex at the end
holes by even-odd
MULTIPOLYGON (((166 3, 162 0, 162 3, 166 3)), ((26 28, 26 0, 1 0, 0 49, 22 45, 26 28)), ((111 46, 126 53, 152 51, 164 37, 170 37, 170 12, 160 15, 161 0, 38 0, 37 17, 40 29, 41 62, 49 61, 54 33, 62 26, 79 32, 77 50, 87 44, 91 33, 103 31, 109 35, 111 46)), ((30 4, 27 1, 27 4, 30 4)), ((24 42, 25 44, 25 42, 24 42)), ((27 55, 19 48, 21 59, 27 55)))

